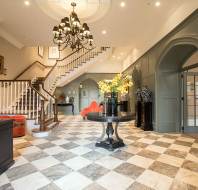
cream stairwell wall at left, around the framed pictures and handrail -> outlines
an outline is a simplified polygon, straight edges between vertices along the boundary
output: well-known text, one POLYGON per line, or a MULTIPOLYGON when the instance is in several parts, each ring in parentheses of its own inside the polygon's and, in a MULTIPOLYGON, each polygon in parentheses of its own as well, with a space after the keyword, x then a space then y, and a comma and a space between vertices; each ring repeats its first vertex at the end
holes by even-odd
MULTIPOLYGON (((64 50, 61 52, 61 57, 64 58, 69 55, 71 50, 64 50)), ((40 61, 44 65, 53 66, 56 62, 55 59, 48 59, 48 47, 44 47, 44 56, 41 58, 38 55, 38 47, 23 47, 18 49, 8 41, 0 37, 0 55, 4 56, 4 65, 7 69, 7 75, 0 75, 0 80, 12 80, 18 74, 20 74, 25 68, 35 61, 40 61)), ((49 71, 41 67, 40 65, 35 65, 28 72, 20 77, 20 79, 32 79, 34 76, 45 76, 49 71)))

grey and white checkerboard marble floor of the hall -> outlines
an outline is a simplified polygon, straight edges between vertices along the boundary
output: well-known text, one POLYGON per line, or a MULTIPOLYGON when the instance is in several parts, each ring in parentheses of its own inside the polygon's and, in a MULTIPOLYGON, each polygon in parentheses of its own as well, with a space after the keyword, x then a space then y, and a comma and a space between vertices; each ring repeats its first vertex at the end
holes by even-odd
POLYGON ((49 137, 14 139, 0 190, 198 190, 198 139, 119 128, 125 147, 94 146, 100 123, 67 117, 49 137))

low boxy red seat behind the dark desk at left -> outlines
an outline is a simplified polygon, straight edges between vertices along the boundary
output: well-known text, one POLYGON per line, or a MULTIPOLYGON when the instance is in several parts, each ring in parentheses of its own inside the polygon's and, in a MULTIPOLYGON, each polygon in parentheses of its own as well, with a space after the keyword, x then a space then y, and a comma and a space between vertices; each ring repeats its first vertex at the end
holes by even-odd
POLYGON ((25 135, 26 118, 23 115, 1 115, 0 119, 13 119, 13 137, 22 137, 25 135))

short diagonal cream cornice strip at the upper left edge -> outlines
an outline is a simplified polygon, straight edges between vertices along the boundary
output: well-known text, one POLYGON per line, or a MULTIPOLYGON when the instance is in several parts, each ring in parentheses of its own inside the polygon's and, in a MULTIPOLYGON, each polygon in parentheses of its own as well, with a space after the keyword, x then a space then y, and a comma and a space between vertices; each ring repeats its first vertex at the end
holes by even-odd
POLYGON ((6 32, 2 28, 0 28, 0 37, 2 37, 3 39, 7 40, 8 42, 10 42, 13 46, 15 46, 18 49, 21 49, 21 48, 24 47, 24 44, 19 42, 15 37, 10 35, 8 32, 6 32))

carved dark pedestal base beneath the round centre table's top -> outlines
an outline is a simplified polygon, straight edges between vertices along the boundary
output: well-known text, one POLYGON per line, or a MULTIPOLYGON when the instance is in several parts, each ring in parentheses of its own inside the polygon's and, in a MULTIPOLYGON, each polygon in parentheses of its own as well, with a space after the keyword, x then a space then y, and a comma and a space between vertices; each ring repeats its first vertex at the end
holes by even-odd
POLYGON ((113 138, 114 129, 113 129, 112 122, 107 123, 106 129, 105 129, 105 125, 103 124, 103 133, 102 133, 102 136, 98 139, 98 142, 96 143, 96 147, 105 148, 105 149, 111 150, 111 151, 113 151, 116 148, 124 147, 125 144, 124 144, 123 140, 119 137, 117 129, 118 129, 118 123, 116 123, 116 125, 115 125, 116 139, 114 139, 113 138), (105 136, 105 132, 106 132, 108 138, 103 140, 104 136, 105 136))

